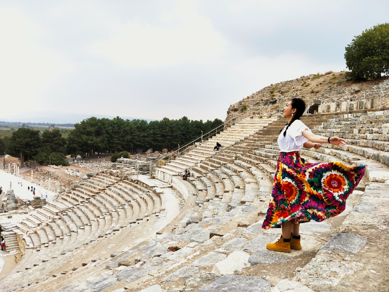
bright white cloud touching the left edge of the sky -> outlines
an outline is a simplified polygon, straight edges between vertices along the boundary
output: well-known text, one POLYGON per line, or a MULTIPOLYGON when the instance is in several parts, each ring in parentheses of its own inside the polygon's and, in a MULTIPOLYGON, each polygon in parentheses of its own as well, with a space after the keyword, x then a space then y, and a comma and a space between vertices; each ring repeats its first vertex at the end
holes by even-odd
POLYGON ((40 45, 45 31, 16 9, 0 10, 0 94, 2 105, 35 109, 41 98, 75 69, 54 49, 40 45))

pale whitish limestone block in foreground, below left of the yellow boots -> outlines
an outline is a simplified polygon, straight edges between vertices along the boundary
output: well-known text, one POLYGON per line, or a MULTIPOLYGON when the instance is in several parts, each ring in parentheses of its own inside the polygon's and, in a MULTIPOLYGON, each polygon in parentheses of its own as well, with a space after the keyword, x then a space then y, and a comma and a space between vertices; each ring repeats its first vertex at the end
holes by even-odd
POLYGON ((247 252, 235 251, 226 259, 217 262, 212 269, 212 273, 223 276, 240 272, 243 268, 250 266, 249 257, 250 254, 247 252))

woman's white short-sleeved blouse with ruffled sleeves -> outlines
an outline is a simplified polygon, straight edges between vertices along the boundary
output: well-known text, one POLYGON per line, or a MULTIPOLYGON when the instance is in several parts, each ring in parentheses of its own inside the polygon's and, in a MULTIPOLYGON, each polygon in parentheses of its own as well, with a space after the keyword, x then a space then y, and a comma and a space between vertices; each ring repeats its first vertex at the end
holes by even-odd
POLYGON ((308 129, 309 132, 311 130, 304 125, 304 123, 300 120, 295 120, 288 130, 286 131, 286 135, 284 137, 286 126, 282 129, 281 134, 278 136, 278 146, 280 147, 280 151, 282 152, 291 152, 291 151, 299 151, 303 148, 303 144, 308 141, 302 133, 304 130, 308 129))

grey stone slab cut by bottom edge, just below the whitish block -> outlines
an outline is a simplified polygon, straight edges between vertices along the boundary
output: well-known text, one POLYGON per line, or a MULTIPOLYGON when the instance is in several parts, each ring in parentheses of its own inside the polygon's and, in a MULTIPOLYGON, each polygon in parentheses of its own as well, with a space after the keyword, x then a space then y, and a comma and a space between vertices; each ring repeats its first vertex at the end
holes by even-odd
POLYGON ((223 276, 203 287, 199 292, 267 292, 272 288, 270 282, 259 277, 240 275, 223 276))

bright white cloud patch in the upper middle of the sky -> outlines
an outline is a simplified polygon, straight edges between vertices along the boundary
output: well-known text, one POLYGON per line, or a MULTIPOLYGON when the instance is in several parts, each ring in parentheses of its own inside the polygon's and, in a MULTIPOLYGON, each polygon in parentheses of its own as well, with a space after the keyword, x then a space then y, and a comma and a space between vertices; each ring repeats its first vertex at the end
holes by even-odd
POLYGON ((162 12, 158 25, 129 21, 109 39, 91 44, 89 52, 123 67, 161 67, 205 63, 223 54, 226 41, 208 18, 187 3, 162 12))

